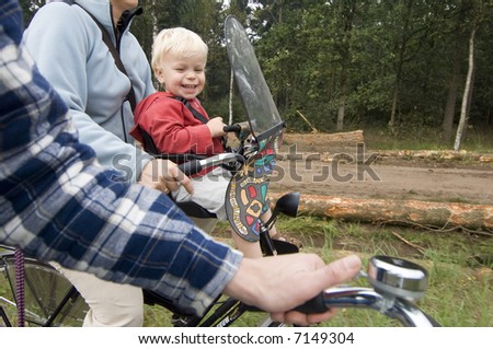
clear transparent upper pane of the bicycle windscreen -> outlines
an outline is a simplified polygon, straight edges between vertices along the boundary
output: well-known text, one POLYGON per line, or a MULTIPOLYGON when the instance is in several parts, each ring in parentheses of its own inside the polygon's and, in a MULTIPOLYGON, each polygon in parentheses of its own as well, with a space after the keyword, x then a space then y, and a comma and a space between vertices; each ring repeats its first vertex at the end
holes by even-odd
POLYGON ((225 22, 229 61, 253 135, 259 136, 282 124, 279 113, 256 60, 243 25, 234 16, 225 22))

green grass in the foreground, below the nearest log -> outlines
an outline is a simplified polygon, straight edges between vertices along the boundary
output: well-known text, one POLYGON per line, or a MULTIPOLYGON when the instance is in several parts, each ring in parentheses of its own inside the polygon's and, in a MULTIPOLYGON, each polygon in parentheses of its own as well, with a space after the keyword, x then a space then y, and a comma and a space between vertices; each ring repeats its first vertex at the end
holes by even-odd
MULTIPOLYGON (((421 309, 443 326, 493 327, 491 236, 378 226, 314 217, 279 219, 277 228, 299 237, 303 242, 303 252, 316 253, 326 261, 348 253, 357 253, 365 266, 371 256, 378 254, 416 261, 429 272, 428 289, 419 302, 421 309)), ((228 242, 228 224, 218 223, 213 234, 228 242)), ((354 284, 368 287, 362 279, 354 284)), ((11 299, 10 289, 1 272, 0 296, 11 299)), ((0 305, 4 304, 0 301, 0 305)), ((14 318, 14 311, 9 311, 9 316, 14 318)), ((145 312, 145 326, 171 326, 171 314, 163 307, 146 305, 145 312)), ((255 326, 263 316, 265 314, 246 313, 234 326, 255 326)), ((340 310, 337 316, 320 326, 377 327, 400 324, 376 311, 340 310)))

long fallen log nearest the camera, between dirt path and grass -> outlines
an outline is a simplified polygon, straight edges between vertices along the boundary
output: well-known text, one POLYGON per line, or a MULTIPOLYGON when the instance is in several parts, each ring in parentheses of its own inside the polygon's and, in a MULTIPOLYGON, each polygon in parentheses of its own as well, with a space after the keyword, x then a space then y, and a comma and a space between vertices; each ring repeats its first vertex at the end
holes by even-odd
MULTIPOLYGON (((270 194, 273 202, 282 194, 270 194)), ((369 223, 493 231, 493 206, 301 195, 299 212, 369 223)))

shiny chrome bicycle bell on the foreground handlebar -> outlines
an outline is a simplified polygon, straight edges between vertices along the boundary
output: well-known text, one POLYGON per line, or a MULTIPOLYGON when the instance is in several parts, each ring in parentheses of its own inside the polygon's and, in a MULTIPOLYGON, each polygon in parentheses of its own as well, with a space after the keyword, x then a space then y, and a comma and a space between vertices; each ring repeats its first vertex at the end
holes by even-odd
POLYGON ((427 271, 420 265, 389 256, 371 257, 368 281, 375 291, 386 298, 420 300, 426 290, 427 271))

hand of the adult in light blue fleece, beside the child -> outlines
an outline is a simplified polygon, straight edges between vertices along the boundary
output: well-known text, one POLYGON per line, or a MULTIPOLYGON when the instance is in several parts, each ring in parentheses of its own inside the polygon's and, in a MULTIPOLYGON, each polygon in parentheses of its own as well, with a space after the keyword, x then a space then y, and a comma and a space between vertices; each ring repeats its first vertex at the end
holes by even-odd
POLYGON ((144 167, 138 183, 164 194, 177 190, 180 184, 190 194, 194 191, 192 182, 180 171, 177 165, 174 162, 162 159, 149 161, 144 167))

